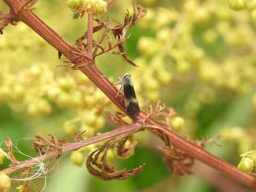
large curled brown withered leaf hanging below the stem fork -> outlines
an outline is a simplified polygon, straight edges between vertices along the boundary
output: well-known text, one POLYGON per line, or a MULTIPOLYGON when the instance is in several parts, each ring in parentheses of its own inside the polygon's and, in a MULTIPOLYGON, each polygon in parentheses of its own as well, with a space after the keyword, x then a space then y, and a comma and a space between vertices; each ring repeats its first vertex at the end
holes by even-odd
POLYGON ((93 151, 87 158, 86 166, 89 172, 102 180, 127 179, 141 172, 145 166, 145 164, 143 164, 135 169, 120 171, 117 170, 114 166, 110 165, 107 162, 107 153, 109 147, 115 142, 116 139, 110 140, 99 149, 93 151), (101 154, 103 154, 102 158, 99 158, 101 154))

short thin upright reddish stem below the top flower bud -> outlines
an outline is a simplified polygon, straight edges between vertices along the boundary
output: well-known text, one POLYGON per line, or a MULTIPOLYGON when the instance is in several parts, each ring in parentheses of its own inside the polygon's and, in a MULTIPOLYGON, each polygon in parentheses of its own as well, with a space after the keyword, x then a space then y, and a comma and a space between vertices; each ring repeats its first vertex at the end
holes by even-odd
POLYGON ((93 42, 93 13, 88 13, 88 26, 87 26, 87 54, 92 59, 92 42, 93 42))

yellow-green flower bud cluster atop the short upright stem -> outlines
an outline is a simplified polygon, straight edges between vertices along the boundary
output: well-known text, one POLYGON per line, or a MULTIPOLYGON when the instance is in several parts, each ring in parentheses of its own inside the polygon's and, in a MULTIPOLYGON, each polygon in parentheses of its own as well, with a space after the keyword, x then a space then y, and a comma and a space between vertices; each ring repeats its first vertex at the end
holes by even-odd
POLYGON ((103 0, 83 0, 84 8, 93 14, 103 14, 107 12, 107 3, 103 0))

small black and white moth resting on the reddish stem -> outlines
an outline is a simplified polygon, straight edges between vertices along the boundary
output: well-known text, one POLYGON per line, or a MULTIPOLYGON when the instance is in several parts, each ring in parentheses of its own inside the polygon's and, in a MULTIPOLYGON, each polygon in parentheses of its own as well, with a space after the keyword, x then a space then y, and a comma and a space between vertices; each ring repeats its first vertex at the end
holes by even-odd
POLYGON ((126 113, 132 118, 137 117, 140 114, 140 107, 133 87, 131 75, 128 73, 124 74, 122 78, 119 77, 119 81, 114 85, 121 85, 118 94, 120 92, 124 94, 126 113))

